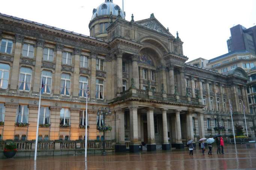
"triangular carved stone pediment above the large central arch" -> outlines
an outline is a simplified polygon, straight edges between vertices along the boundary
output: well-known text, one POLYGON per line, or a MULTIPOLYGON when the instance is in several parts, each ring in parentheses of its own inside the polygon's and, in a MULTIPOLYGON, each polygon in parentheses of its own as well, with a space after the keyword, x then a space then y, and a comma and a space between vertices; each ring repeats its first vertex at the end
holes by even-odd
POLYGON ((136 21, 135 23, 140 24, 148 29, 173 36, 169 32, 169 30, 167 30, 155 17, 148 18, 146 20, 136 21))

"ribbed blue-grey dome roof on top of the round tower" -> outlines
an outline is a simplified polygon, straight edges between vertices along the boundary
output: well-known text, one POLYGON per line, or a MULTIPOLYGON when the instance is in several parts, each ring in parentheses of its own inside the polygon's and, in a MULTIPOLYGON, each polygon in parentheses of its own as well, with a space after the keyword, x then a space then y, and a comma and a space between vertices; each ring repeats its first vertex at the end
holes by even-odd
POLYGON ((98 6, 97 9, 93 9, 93 15, 92 15, 92 20, 96 18, 96 16, 101 16, 101 15, 110 15, 112 12, 112 15, 117 16, 118 15, 118 10, 120 9, 120 15, 124 19, 125 15, 122 11, 122 9, 113 3, 113 0, 105 0, 104 3, 98 6))

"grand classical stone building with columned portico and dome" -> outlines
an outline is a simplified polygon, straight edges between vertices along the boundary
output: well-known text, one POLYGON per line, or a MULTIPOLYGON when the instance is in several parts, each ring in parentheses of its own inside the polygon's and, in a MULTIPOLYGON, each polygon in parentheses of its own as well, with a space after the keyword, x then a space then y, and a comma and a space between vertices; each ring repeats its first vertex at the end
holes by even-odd
POLYGON ((113 0, 105 0, 93 10, 89 27, 86 36, 0 15, 2 140, 35 140, 41 74, 42 140, 84 138, 87 84, 88 137, 102 139, 97 111, 109 107, 113 114, 106 124, 112 130, 105 138, 116 141, 117 151, 129 146, 137 152, 142 142, 149 151, 156 144, 179 148, 190 138, 217 134, 213 128, 218 123, 227 129, 221 134, 228 136, 229 99, 235 122, 242 120, 242 100, 252 123, 245 71, 236 68, 222 75, 185 64, 178 33, 173 36, 154 14, 127 21, 113 0))

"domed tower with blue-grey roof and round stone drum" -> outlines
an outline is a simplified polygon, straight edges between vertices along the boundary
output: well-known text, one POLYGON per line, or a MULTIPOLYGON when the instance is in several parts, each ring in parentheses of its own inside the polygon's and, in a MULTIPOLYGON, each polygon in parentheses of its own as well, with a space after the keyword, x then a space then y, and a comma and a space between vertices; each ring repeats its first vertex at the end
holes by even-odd
POLYGON ((114 22, 120 13, 121 18, 125 19, 122 9, 113 3, 113 0, 105 0, 104 3, 94 8, 92 20, 89 23, 90 36, 107 40, 106 29, 110 26, 111 20, 114 22), (119 12, 120 10, 120 12, 119 12))

